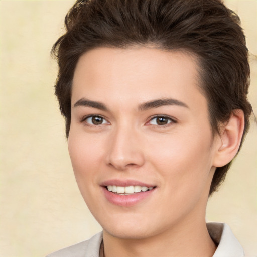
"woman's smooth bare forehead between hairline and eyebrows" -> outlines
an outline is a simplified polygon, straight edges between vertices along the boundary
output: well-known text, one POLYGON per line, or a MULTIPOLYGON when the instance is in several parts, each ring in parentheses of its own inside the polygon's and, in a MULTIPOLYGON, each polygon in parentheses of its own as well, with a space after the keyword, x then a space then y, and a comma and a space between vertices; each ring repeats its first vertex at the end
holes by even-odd
POLYGON ((132 105, 172 97, 189 104, 199 98, 198 105, 206 105, 197 69, 196 58, 188 52, 146 47, 93 49, 77 63, 72 103, 89 97, 132 105))

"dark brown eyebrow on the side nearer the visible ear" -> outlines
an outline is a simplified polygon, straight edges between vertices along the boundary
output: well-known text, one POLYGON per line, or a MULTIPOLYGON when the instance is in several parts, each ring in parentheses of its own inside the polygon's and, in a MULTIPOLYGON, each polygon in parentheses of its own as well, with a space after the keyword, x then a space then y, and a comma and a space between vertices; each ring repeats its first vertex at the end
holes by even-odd
POLYGON ((188 105, 182 101, 173 98, 156 99, 153 101, 148 101, 139 105, 139 110, 144 111, 152 108, 158 108, 165 105, 177 105, 181 107, 189 108, 188 105))

